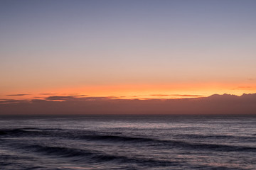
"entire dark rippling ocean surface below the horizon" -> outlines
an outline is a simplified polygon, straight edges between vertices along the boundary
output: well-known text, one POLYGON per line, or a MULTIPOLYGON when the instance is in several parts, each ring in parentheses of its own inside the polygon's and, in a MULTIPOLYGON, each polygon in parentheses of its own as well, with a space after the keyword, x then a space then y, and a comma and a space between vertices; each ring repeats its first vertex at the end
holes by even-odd
POLYGON ((256 169, 256 116, 1 117, 0 169, 256 169))

